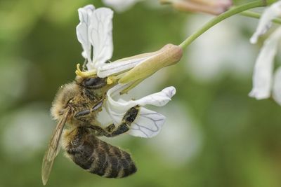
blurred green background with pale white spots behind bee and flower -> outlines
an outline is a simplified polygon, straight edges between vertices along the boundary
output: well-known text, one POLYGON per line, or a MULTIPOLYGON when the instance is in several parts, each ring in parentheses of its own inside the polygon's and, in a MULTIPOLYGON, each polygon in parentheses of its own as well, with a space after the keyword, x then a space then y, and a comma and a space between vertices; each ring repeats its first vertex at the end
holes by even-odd
MULTIPOLYGON (((0 186, 42 186, 41 160, 55 127, 51 102, 84 61, 75 27, 86 4, 103 6, 0 1, 0 186)), ((140 2, 115 13, 113 60, 179 44, 210 18, 140 2)), ((131 152, 136 174, 103 179, 61 151, 47 186, 281 186, 281 108, 247 96, 260 47, 249 44, 257 22, 239 15, 222 22, 188 46, 181 62, 133 90, 139 98, 177 88, 172 102, 153 108, 167 117, 157 137, 106 139, 131 152)))

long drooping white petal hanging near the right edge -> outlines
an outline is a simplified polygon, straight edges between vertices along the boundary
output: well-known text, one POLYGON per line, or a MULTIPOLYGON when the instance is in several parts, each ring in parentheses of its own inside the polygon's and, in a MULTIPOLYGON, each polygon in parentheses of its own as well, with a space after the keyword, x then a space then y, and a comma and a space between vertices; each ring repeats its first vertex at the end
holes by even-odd
POLYGON ((271 34, 264 42, 261 52, 256 59, 253 75, 253 88, 249 93, 250 97, 255 97, 256 99, 266 99, 270 96, 273 60, 277 53, 277 45, 280 37, 281 27, 271 34))

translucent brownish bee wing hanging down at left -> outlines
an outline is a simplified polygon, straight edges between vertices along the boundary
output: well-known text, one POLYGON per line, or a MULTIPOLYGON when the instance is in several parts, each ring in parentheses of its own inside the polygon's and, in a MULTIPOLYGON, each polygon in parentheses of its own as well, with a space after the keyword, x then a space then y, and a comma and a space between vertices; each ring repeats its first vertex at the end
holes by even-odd
POLYGON ((60 119, 58 125, 55 127, 55 131, 51 137, 51 141, 48 144, 48 149, 44 155, 42 162, 42 181, 45 185, 48 181, 48 176, 50 175, 51 169, 53 167, 53 160, 59 151, 60 137, 63 132, 63 127, 65 126, 69 111, 67 111, 63 118, 60 119))

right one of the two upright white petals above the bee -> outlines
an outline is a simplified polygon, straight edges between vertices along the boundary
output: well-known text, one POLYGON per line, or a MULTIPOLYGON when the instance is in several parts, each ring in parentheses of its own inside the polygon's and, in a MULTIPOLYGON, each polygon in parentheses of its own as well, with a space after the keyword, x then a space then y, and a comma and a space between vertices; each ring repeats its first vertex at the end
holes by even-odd
POLYGON ((110 8, 98 8, 91 15, 89 39, 93 46, 93 63, 88 63, 88 69, 98 69, 112 57, 112 18, 110 8))

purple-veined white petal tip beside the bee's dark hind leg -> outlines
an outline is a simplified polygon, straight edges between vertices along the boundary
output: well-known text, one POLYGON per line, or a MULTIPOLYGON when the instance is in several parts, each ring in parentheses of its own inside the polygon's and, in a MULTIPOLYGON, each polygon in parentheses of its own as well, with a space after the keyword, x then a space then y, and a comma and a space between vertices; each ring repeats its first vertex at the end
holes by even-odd
POLYGON ((141 107, 136 120, 134 120, 131 125, 129 134, 134 137, 154 137, 162 129, 165 119, 165 116, 161 113, 141 107))

